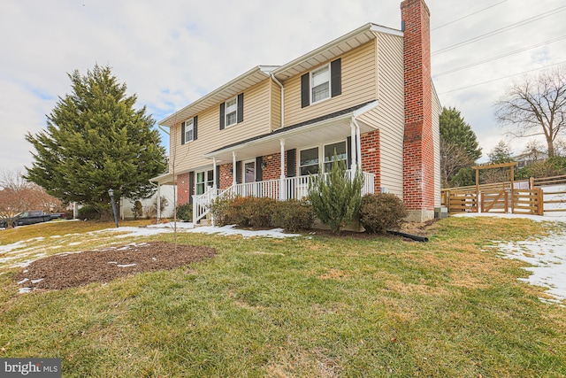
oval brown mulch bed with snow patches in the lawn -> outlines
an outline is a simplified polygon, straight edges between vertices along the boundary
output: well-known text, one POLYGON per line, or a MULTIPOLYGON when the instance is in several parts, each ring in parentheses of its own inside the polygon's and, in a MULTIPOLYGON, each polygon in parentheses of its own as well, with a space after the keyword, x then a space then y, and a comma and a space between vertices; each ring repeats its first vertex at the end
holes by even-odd
POLYGON ((215 254, 214 248, 203 246, 178 244, 174 251, 173 243, 128 244, 42 258, 14 278, 21 288, 65 289, 92 282, 110 282, 139 272, 173 269, 215 254))

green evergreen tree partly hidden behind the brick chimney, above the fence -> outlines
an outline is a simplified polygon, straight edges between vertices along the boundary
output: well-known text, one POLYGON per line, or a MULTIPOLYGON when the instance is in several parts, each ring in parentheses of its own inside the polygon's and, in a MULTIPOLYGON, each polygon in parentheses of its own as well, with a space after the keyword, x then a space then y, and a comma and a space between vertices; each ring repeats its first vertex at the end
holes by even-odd
POLYGON ((440 113, 440 173, 442 186, 454 182, 461 169, 470 167, 481 157, 476 134, 453 107, 440 113))

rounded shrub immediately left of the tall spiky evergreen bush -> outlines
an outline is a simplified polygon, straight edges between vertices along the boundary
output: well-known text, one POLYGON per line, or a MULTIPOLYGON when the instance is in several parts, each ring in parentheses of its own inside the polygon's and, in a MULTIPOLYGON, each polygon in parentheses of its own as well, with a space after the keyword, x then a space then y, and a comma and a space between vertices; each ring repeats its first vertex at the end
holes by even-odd
POLYGON ((281 201, 274 207, 273 224, 288 232, 310 229, 315 222, 312 205, 305 200, 281 201))

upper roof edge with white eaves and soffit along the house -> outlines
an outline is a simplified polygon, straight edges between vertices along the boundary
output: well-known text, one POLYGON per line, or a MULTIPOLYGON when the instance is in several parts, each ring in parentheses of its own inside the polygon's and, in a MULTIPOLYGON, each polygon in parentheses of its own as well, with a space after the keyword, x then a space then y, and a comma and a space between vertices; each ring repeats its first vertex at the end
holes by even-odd
POLYGON ((333 58, 354 50, 364 43, 370 42, 376 38, 376 33, 385 33, 390 35, 402 36, 402 31, 390 27, 382 27, 376 24, 368 23, 363 27, 358 27, 347 35, 328 42, 325 45, 312 50, 302 57, 296 58, 284 66, 256 66, 243 73, 233 81, 227 82, 222 87, 213 90, 208 95, 201 97, 192 104, 188 104, 178 112, 173 113, 164 120, 158 122, 159 125, 172 127, 176 123, 187 120, 189 117, 195 116, 199 112, 220 104, 226 99, 236 96, 246 89, 258 84, 269 78, 273 74, 279 81, 285 81, 288 78, 299 73, 310 71, 315 66, 319 66, 333 58))

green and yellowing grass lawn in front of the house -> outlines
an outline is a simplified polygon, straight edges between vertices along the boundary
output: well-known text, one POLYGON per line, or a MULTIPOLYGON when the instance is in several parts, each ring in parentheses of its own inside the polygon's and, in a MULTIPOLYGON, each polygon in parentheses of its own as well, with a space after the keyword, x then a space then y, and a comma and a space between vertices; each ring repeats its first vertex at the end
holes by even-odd
MULTIPOLYGON (((66 224, 38 229, 80 233, 81 244, 69 245, 77 235, 32 243, 81 251, 115 242, 66 224)), ((10 231, 2 244, 37 237, 10 231)), ((218 256, 27 295, 11 280, 16 269, 4 268, 0 357, 61 358, 65 377, 566 376, 566 310, 542 303, 542 289, 517 280, 524 265, 491 248, 558 231, 450 218, 430 243, 180 234, 218 256)))

